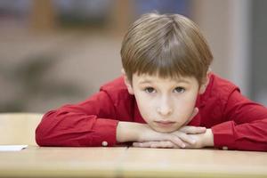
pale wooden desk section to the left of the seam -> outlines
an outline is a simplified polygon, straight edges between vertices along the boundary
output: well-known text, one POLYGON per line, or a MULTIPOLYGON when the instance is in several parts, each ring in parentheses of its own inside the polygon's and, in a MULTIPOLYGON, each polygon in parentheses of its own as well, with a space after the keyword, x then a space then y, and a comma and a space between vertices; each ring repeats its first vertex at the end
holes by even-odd
POLYGON ((0 177, 116 177, 125 147, 0 151, 0 177))

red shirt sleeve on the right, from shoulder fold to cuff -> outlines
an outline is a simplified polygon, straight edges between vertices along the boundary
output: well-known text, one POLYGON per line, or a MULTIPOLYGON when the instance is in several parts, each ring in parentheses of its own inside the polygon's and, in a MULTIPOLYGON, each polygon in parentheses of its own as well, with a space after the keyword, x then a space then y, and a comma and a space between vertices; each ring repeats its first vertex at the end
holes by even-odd
POLYGON ((229 150, 267 150, 267 109, 249 101, 239 89, 225 101, 225 122, 214 125, 214 147, 229 150))

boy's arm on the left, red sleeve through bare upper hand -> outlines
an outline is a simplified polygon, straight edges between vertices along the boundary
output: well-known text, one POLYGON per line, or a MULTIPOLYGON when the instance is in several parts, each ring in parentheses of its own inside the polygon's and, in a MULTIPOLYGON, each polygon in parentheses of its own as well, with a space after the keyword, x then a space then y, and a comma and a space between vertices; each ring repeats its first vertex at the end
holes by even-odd
MULTIPOLYGON (((127 110, 127 100, 123 109, 127 110)), ((131 107, 129 107, 131 108, 131 107)), ((198 110, 197 110, 198 111, 198 110)), ((126 111, 127 113, 127 111, 126 111)), ((197 112, 196 112, 197 113, 197 112)), ((196 113, 193 113, 194 117, 196 113)), ((114 101, 101 91, 87 101, 66 105, 46 113, 36 128, 36 143, 40 146, 113 146, 117 142, 170 141, 180 145, 191 142, 185 134, 160 134, 146 124, 131 122, 127 114, 119 121, 114 101), (108 143, 108 145, 107 145, 108 143)), ((189 132, 203 133, 203 128, 191 128, 189 132), (198 131, 199 130, 199 131, 198 131)))

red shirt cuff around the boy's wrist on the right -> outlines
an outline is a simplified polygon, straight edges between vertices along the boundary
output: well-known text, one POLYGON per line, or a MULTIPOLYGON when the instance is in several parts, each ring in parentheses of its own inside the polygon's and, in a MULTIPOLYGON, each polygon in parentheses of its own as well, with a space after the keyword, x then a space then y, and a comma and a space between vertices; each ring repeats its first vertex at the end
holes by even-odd
POLYGON ((223 150, 234 150, 234 126, 233 121, 214 125, 211 129, 214 134, 214 147, 223 150))

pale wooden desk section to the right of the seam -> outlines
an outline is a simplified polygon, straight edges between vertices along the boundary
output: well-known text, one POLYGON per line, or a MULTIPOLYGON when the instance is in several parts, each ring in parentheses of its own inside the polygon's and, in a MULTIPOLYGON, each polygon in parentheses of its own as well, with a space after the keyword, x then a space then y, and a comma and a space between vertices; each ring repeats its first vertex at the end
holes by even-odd
POLYGON ((121 177, 267 177, 267 153, 129 148, 121 177))

